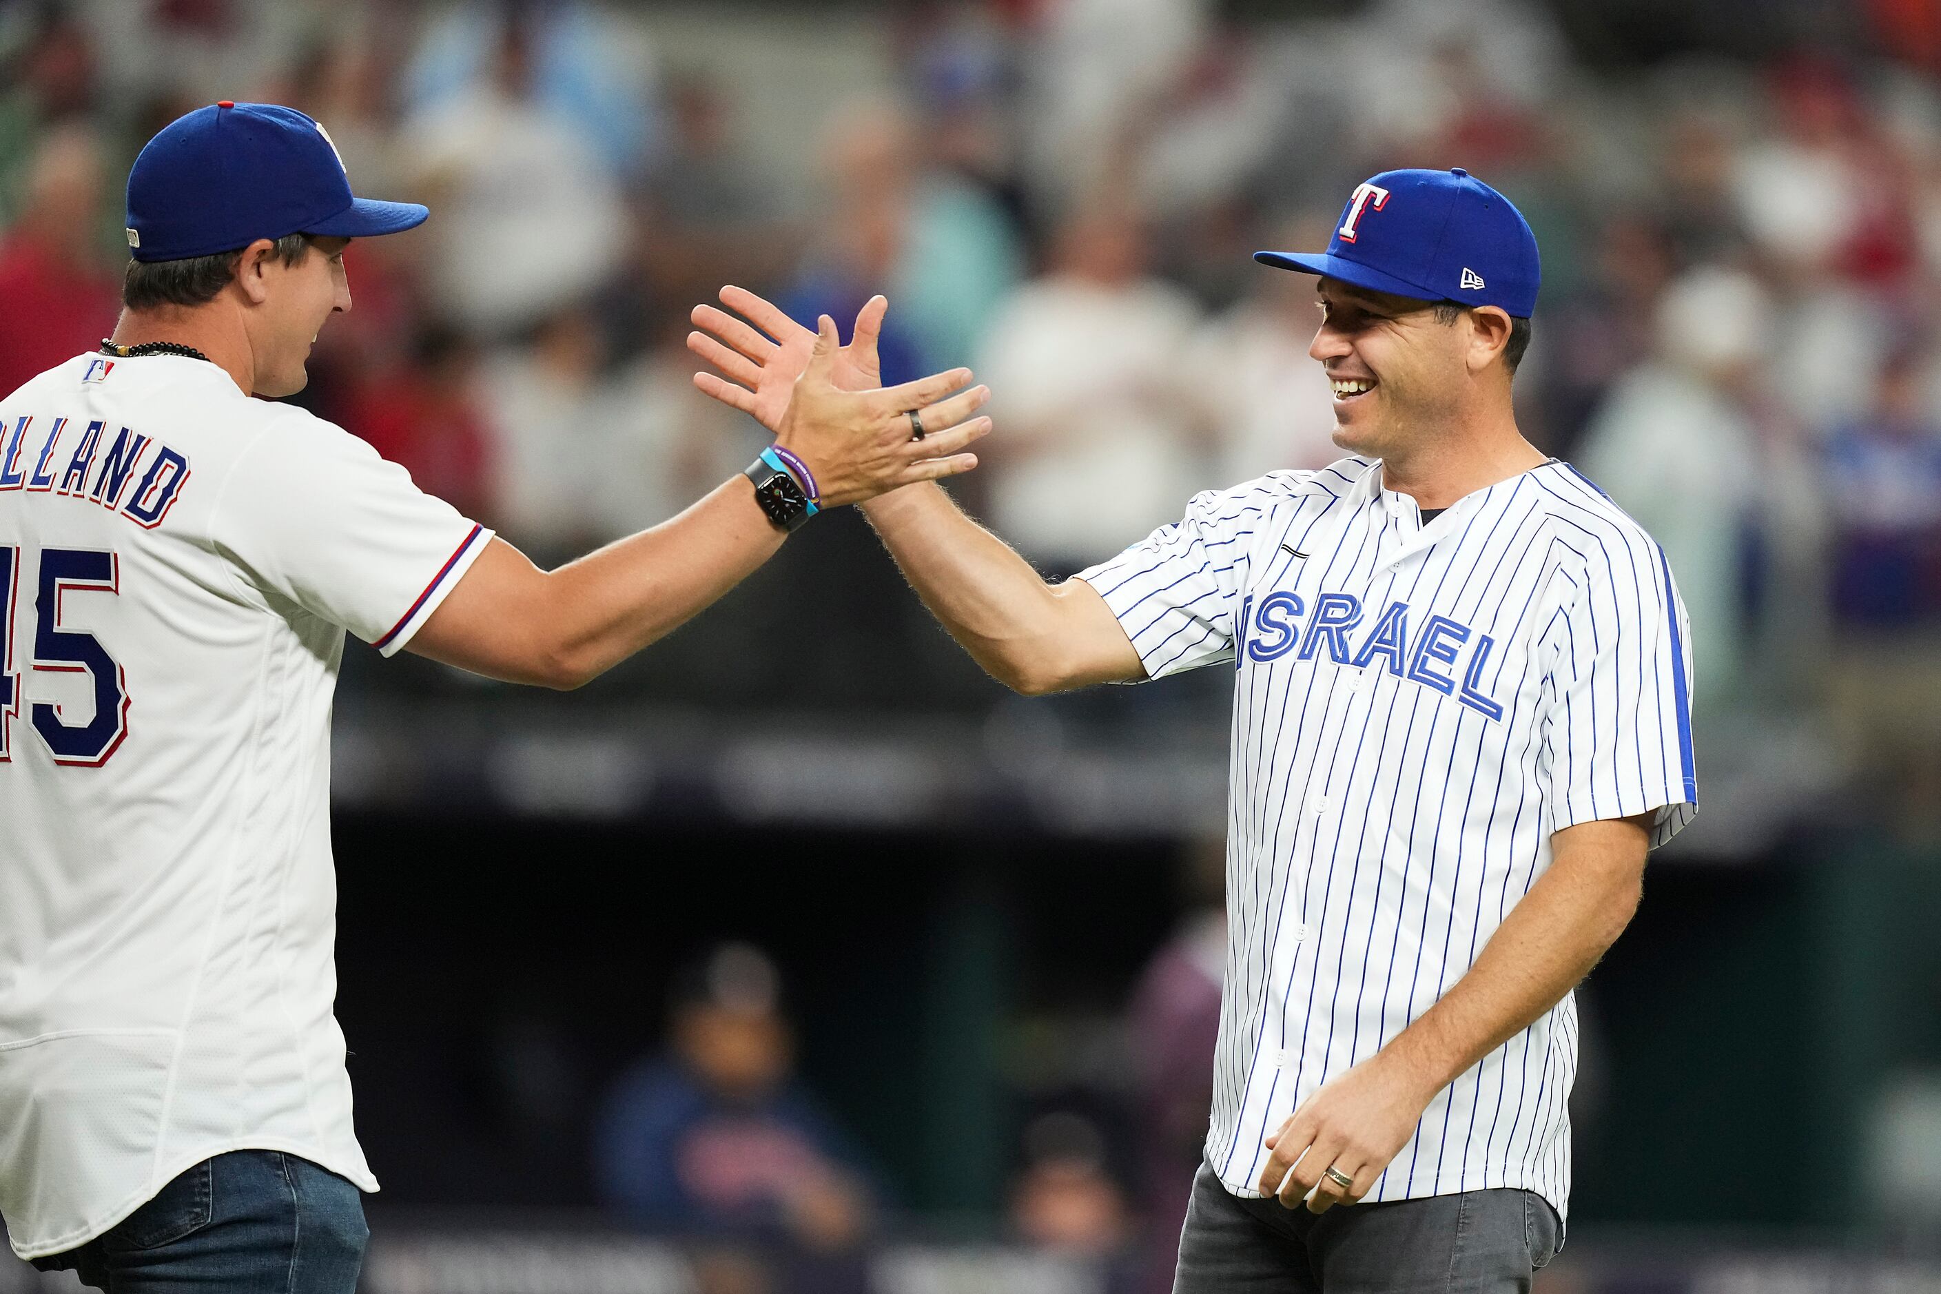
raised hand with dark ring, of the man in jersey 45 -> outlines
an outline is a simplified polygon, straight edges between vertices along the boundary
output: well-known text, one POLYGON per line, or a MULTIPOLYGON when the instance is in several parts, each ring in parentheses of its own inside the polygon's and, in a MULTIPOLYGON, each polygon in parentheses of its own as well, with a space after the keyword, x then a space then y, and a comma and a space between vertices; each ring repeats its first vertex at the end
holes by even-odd
MULTIPOLYGON (((970 417, 990 400, 990 390, 959 390, 970 380, 969 369, 951 369, 903 386, 842 390, 835 382, 842 363, 839 355, 854 347, 837 343, 837 322, 823 314, 817 332, 802 332, 811 340, 807 361, 802 376, 788 380, 786 402, 774 415, 773 429, 774 442, 809 466, 823 506, 862 502, 899 485, 936 481, 976 468, 976 454, 961 450, 990 431, 988 417, 970 417), (922 438, 910 435, 912 411, 922 438)), ((773 367, 778 371, 780 363, 773 367)), ((707 390, 703 376, 710 374, 695 374, 695 384, 707 390)), ((776 378, 763 376, 757 390, 732 382, 722 386, 741 392, 753 404, 773 400, 774 392, 763 396, 759 386, 774 382, 776 378)), ((755 413, 736 400, 728 404, 755 413)))

